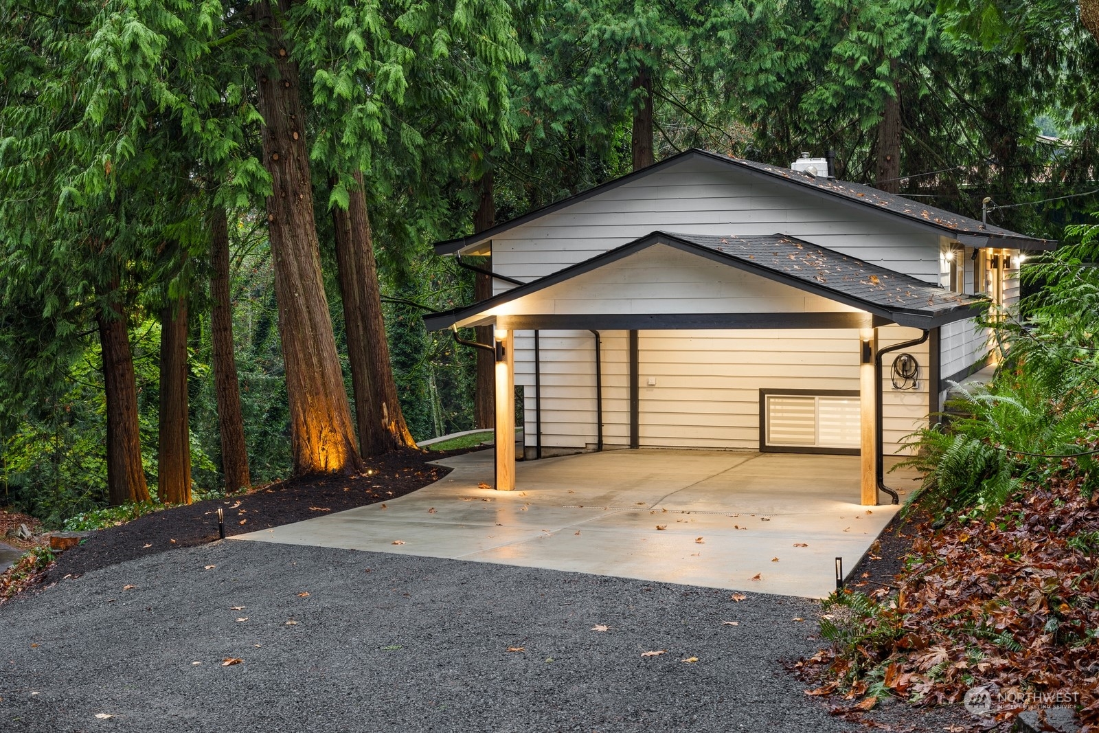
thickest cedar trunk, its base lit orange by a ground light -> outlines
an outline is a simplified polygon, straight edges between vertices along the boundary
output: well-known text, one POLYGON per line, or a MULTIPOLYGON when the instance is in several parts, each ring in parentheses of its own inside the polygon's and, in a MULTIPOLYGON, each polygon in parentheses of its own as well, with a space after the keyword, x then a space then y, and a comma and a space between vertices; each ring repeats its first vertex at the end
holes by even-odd
MULTIPOLYGON (((285 12, 289 2, 282 0, 280 7, 285 12)), ((264 165, 271 176, 267 231, 275 259, 293 473, 358 471, 363 462, 355 451, 355 430, 321 278, 298 66, 290 62, 271 7, 258 2, 253 8, 270 41, 270 65, 257 70, 257 96, 264 118, 264 165)))

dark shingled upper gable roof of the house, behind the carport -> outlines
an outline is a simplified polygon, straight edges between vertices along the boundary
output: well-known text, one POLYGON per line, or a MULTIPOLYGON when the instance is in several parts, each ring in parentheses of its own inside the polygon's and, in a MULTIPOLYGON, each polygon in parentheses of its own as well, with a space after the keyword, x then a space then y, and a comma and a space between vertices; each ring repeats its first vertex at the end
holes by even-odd
POLYGON ((918 229, 950 236, 953 240, 957 240, 958 242, 973 247, 1053 249, 1057 246, 1055 240, 1043 240, 1026 236, 1025 234, 1019 234, 1018 232, 1012 232, 1000 226, 993 226, 992 224, 983 224, 976 219, 963 216, 962 214, 946 211, 945 209, 925 206, 923 203, 919 203, 918 201, 913 201, 912 199, 907 199, 903 196, 880 191, 876 188, 870 188, 869 186, 863 186, 862 184, 852 184, 850 181, 843 181, 835 178, 812 176, 807 173, 798 173, 780 166, 767 165, 766 163, 755 163, 753 160, 734 158, 729 155, 691 148, 689 151, 685 151, 684 153, 679 153, 678 155, 665 158, 664 160, 647 168, 636 170, 626 176, 622 176, 621 178, 615 178, 614 180, 608 181, 601 186, 588 189, 587 191, 582 191, 576 196, 563 199, 547 207, 543 207, 542 209, 532 211, 522 216, 502 222, 491 229, 478 232, 477 234, 470 234, 469 236, 458 237, 455 240, 447 240, 445 242, 436 242, 434 245, 435 254, 451 255, 458 253, 466 247, 487 242, 493 236, 502 234, 503 232, 514 229, 515 226, 520 226, 530 221, 564 209, 573 203, 585 201, 598 196, 599 193, 618 188, 619 186, 637 180, 663 168, 670 167, 691 158, 715 160, 722 165, 729 166, 732 169, 745 173, 754 178, 778 182, 782 186, 789 186, 798 190, 808 191, 833 202, 857 207, 863 210, 874 209, 882 215, 899 219, 918 229))

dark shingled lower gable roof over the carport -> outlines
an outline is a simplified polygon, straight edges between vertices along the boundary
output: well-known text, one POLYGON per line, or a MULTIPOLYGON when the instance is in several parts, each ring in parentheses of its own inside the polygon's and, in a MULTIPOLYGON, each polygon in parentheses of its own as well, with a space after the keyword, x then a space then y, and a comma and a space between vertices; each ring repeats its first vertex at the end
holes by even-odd
POLYGON ((429 331, 452 327, 497 306, 584 275, 655 244, 696 254, 917 329, 933 329, 970 318, 985 302, 980 298, 951 292, 910 275, 784 234, 711 236, 657 231, 479 303, 425 315, 424 322, 429 331))

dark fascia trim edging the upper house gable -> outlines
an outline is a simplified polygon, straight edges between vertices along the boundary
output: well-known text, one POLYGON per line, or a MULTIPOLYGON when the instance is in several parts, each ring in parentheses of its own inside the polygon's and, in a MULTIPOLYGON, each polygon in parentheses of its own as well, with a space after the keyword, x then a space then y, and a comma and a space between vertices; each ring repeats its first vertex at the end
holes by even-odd
MULTIPOLYGON (((606 184, 602 184, 602 185, 597 186, 595 188, 588 189, 587 191, 581 191, 580 193, 577 193, 575 196, 570 196, 568 198, 562 199, 560 201, 557 201, 555 203, 551 203, 550 206, 546 206, 546 207, 543 207, 543 208, 537 209, 535 211, 532 211, 530 213, 523 214, 522 216, 518 216, 518 218, 512 219, 510 221, 506 221, 506 222, 502 222, 500 224, 497 224, 496 226, 493 226, 491 229, 487 229, 484 232, 480 232, 478 234, 470 234, 469 236, 463 236, 463 237, 457 237, 457 238, 454 238, 454 240, 447 240, 445 242, 436 242, 435 245, 434 245, 434 247, 435 247, 435 254, 436 255, 453 255, 453 254, 455 254, 455 253, 464 249, 465 247, 487 242, 487 241, 491 240, 493 236, 502 234, 503 232, 507 232, 507 231, 509 231, 511 229, 514 229, 515 226, 520 226, 522 224, 525 224, 525 223, 528 223, 530 221, 533 221, 535 219, 539 219, 541 216, 545 216, 547 214, 552 214, 552 213, 554 213, 556 211, 559 211, 560 209, 564 209, 565 207, 569 207, 569 206, 571 206, 574 203, 579 203, 579 202, 585 201, 585 200, 587 200, 587 199, 589 199, 589 198, 591 198, 593 196, 597 196, 598 193, 602 193, 603 191, 613 190, 613 189, 618 188, 619 186, 623 186, 625 184, 634 181, 634 180, 636 180, 639 178, 647 176, 651 173, 656 173, 657 170, 666 168, 666 167, 668 167, 668 166, 670 166, 673 164, 680 163, 680 162, 684 162, 684 160, 689 160, 691 158, 704 158, 707 160, 713 160, 713 162, 720 163, 722 165, 732 166, 732 167, 736 168, 737 170, 747 174, 748 177, 751 177, 751 178, 755 178, 757 180, 764 180, 764 181, 767 181, 767 182, 770 182, 770 184, 780 184, 780 185, 785 185, 785 186, 792 186, 792 187, 797 188, 800 191, 809 192, 809 193, 811 193, 813 196, 817 196, 819 198, 822 198, 822 199, 824 199, 826 201, 842 203, 844 206, 851 207, 852 209, 855 209, 855 210, 858 210, 858 211, 863 211, 863 212, 874 211, 874 212, 877 212, 877 215, 879 215, 879 216, 881 216, 884 219, 889 219, 889 220, 893 220, 893 221, 901 221, 904 224, 908 224, 908 225, 910 225, 913 229, 921 230, 921 231, 924 231, 924 232, 928 232, 928 233, 931 233, 931 234, 946 235, 950 238, 955 240, 957 242, 961 242, 963 244, 966 244, 966 245, 968 245, 970 247, 978 247, 978 248, 979 247, 1011 247, 1011 248, 1022 248, 1022 249, 1032 249, 1032 251, 1056 249, 1057 248, 1057 243, 1055 241, 1037 240, 1037 238, 1028 237, 1028 236, 1024 236, 1024 235, 1021 235, 1021 234, 1015 237, 1015 236, 1004 236, 1002 234, 992 233, 992 232, 990 232, 988 234, 978 234, 978 233, 975 233, 975 232, 962 232, 962 231, 958 231, 956 229, 951 229, 950 226, 945 226, 943 224, 935 224, 934 222, 919 221, 917 219, 912 219, 911 216, 907 216, 903 213, 900 213, 900 212, 897 212, 897 211, 892 211, 890 209, 882 209, 882 208, 876 207, 876 206, 874 206, 874 204, 872 204, 869 202, 856 201, 855 199, 847 198, 846 196, 843 196, 841 193, 835 193, 835 192, 832 192, 832 191, 829 191, 829 190, 825 190, 825 189, 818 188, 817 186, 813 186, 809 181, 801 181, 801 180, 798 180, 795 177, 787 178, 785 176, 779 176, 777 174, 769 173, 767 170, 763 170, 763 169, 756 168, 754 166, 743 165, 740 160, 736 160, 735 158, 731 158, 731 157, 725 156, 725 155, 718 155, 717 153, 710 153, 709 151, 702 151, 702 149, 699 149, 699 148, 691 148, 691 149, 688 149, 688 151, 684 151, 682 153, 679 153, 677 155, 673 155, 669 158, 665 158, 664 160, 660 160, 659 163, 654 164, 654 165, 652 165, 652 166, 650 166, 647 168, 642 168, 641 170, 635 170, 635 171, 633 171, 631 174, 622 176, 621 178, 615 178, 614 180, 607 181, 606 184)), ((913 203, 915 203, 915 202, 913 201, 913 203)))

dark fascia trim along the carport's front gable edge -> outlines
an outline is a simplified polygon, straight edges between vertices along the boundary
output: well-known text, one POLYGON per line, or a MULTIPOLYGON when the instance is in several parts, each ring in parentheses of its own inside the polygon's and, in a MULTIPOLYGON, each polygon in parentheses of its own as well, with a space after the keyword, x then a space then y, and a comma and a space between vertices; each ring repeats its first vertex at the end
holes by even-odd
MULTIPOLYGON (((791 237, 789 235, 782 235, 790 240, 796 240, 803 242, 810 246, 813 245, 811 242, 804 242, 802 240, 797 240, 797 237, 791 237)), ((975 314, 976 310, 979 310, 979 304, 967 306, 964 308, 951 309, 946 311, 929 313, 922 310, 912 309, 887 309, 882 308, 877 303, 870 303, 858 298, 853 298, 846 293, 837 292, 823 285, 818 285, 811 280, 802 280, 800 278, 791 277, 785 273, 776 271, 770 268, 764 267, 762 265, 756 265, 753 263, 744 262, 743 259, 737 259, 730 255, 723 254, 715 249, 695 244, 693 242, 688 242, 686 240, 680 240, 679 237, 668 234, 667 232, 652 232, 645 236, 634 240, 633 242, 628 242, 614 249, 609 249, 601 255, 596 255, 589 259, 586 259, 576 265, 570 265, 564 269, 557 270, 552 275, 547 275, 539 280, 533 280, 526 285, 521 285, 519 287, 512 288, 501 292, 498 296, 493 296, 479 303, 474 303, 473 306, 466 306, 464 308, 456 308, 444 313, 433 313, 424 316, 424 323, 429 331, 441 331, 443 329, 449 329, 459 321, 466 320, 470 316, 477 315, 480 312, 487 311, 497 306, 510 302, 523 296, 528 296, 532 292, 537 292, 548 288, 550 286, 557 285, 558 282, 564 282, 565 280, 571 279, 585 273, 589 273, 593 269, 609 265, 611 263, 618 262, 624 257, 646 249, 654 244, 664 244, 682 252, 706 257, 713 262, 736 267, 753 275, 758 275, 759 277, 766 278, 768 280, 774 280, 782 285, 788 285, 798 290, 806 292, 811 292, 813 295, 828 298, 829 300, 834 300, 852 308, 857 308, 859 310, 868 311, 874 315, 882 319, 887 319, 889 323, 897 323, 899 325, 910 325, 917 329, 932 329, 940 325, 945 325, 946 323, 952 323, 954 321, 959 321, 966 318, 970 318, 975 314)), ((496 321, 497 316, 488 316, 487 319, 481 319, 476 322, 476 324, 491 323, 496 321)), ((467 324, 471 325, 474 323, 467 324)), ((548 327, 548 326, 547 326, 548 327)))

